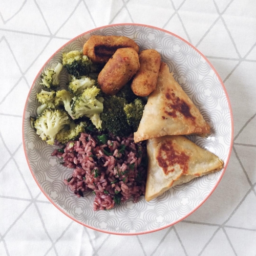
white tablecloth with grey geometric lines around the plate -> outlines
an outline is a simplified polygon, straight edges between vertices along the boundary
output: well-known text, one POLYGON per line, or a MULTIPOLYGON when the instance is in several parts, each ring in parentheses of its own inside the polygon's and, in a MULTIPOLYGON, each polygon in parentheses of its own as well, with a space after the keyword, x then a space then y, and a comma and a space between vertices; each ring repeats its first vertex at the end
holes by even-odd
POLYGON ((0 1, 0 255, 255 255, 255 0, 0 1), (192 215, 161 231, 115 236, 81 226, 41 193, 27 165, 22 117, 47 59, 90 29, 139 23, 196 46, 220 74, 234 145, 219 186, 192 215))

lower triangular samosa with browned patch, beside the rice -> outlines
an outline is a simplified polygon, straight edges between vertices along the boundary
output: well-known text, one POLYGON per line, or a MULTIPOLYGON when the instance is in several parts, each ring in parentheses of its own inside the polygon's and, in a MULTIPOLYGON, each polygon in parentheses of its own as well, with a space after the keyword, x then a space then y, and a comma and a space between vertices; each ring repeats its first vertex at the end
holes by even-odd
POLYGON ((163 136, 147 140, 146 201, 169 188, 216 172, 223 161, 184 136, 163 136))

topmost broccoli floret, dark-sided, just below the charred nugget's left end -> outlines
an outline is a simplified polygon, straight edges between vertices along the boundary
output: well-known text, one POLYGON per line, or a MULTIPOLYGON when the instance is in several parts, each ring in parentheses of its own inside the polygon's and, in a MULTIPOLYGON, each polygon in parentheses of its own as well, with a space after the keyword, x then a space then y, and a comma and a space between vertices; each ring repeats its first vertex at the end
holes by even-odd
POLYGON ((62 64, 69 74, 78 77, 90 73, 92 61, 82 51, 71 51, 62 54, 62 64))

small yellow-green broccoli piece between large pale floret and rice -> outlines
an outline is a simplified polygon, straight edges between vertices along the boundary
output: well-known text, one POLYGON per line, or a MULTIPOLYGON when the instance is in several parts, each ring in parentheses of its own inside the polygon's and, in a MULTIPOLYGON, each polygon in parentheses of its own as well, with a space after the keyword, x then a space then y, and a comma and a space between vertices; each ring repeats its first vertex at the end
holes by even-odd
POLYGON ((56 140, 62 144, 74 140, 79 137, 80 133, 84 132, 86 126, 86 122, 80 122, 79 124, 72 122, 69 130, 62 129, 57 133, 56 140))

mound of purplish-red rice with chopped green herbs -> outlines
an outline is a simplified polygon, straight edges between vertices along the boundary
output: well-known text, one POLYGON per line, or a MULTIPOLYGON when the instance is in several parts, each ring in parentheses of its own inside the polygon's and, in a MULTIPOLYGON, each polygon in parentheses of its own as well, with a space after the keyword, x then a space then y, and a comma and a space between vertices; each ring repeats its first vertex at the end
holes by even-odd
POLYGON ((82 133, 77 141, 70 141, 63 148, 64 153, 55 150, 63 165, 74 168, 73 174, 64 182, 78 197, 92 190, 95 194, 93 209, 111 209, 131 197, 134 202, 145 194, 146 157, 145 142, 134 143, 133 136, 114 137, 102 144, 96 135, 82 133), (125 145, 123 153, 120 145, 125 145))

